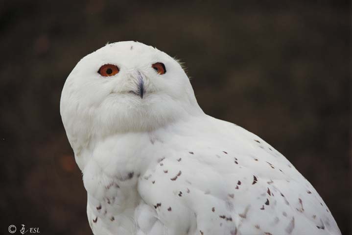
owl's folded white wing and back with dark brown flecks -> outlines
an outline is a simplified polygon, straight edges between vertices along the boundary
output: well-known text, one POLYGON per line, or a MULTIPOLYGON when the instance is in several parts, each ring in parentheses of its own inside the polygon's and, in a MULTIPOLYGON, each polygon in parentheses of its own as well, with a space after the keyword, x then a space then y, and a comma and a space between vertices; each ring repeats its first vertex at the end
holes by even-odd
POLYGON ((145 204, 136 219, 143 233, 341 234, 319 194, 285 157, 249 131, 214 122, 218 134, 180 134, 164 143, 140 177, 145 204))

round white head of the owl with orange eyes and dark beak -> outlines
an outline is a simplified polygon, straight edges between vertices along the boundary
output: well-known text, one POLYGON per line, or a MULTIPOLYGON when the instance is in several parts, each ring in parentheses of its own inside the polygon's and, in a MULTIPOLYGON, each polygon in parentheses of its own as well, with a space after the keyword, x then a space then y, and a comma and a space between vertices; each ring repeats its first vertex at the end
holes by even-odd
POLYGON ((66 80, 60 109, 72 139, 151 131, 200 110, 180 64, 132 41, 108 44, 81 59, 66 80))

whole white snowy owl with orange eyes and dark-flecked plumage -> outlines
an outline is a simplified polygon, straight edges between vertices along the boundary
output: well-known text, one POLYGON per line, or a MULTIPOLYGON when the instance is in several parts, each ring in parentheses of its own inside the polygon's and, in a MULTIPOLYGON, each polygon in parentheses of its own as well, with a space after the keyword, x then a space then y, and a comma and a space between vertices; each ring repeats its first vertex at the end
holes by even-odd
POLYGON ((81 59, 60 112, 95 235, 340 235, 257 135, 206 115, 180 64, 139 42, 81 59))

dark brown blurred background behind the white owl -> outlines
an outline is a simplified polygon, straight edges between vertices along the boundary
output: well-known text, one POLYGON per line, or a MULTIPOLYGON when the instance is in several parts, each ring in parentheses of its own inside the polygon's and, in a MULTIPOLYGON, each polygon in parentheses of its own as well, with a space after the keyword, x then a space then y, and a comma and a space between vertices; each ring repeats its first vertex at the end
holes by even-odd
POLYGON ((204 111, 282 152, 349 234, 350 9, 348 0, 0 3, 0 234, 10 224, 91 234, 60 93, 81 57, 124 40, 184 61, 204 111))

